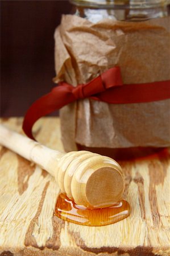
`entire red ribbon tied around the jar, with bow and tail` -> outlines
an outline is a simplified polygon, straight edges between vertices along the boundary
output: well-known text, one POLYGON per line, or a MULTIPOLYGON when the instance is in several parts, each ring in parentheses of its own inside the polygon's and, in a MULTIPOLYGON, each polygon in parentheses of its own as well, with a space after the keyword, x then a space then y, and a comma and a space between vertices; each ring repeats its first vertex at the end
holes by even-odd
POLYGON ((114 67, 87 84, 80 84, 77 87, 67 82, 60 82, 51 92, 36 100, 28 109, 23 121, 24 132, 28 137, 34 139, 32 126, 40 117, 84 98, 92 98, 110 104, 165 100, 170 98, 170 80, 123 85, 121 70, 119 67, 114 67))

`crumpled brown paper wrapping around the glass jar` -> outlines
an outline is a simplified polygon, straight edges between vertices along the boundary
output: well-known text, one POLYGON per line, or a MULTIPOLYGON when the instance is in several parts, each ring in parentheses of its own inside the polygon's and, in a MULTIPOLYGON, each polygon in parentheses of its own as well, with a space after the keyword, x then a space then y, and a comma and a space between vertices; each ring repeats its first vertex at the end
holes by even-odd
MULTIPOLYGON (((94 24, 63 15, 55 31, 55 82, 84 84, 119 65, 125 84, 170 79, 170 19, 94 24)), ((137 85, 136 85, 137 86, 137 85)), ((132 92, 129 92, 132 93, 132 92)), ((170 100, 107 104, 80 100, 61 109, 66 151, 88 147, 170 146, 170 100)))

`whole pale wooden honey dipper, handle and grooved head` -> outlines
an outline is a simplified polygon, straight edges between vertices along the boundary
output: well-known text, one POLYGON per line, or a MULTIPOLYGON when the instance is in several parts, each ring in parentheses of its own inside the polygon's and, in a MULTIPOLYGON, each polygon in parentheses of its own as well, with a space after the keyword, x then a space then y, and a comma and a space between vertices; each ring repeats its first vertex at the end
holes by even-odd
POLYGON ((0 144, 38 164, 55 177, 61 192, 78 205, 106 208, 122 199, 122 168, 107 157, 89 151, 62 153, 0 125, 0 144))

